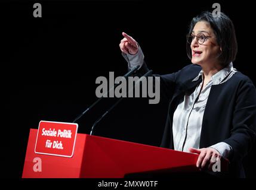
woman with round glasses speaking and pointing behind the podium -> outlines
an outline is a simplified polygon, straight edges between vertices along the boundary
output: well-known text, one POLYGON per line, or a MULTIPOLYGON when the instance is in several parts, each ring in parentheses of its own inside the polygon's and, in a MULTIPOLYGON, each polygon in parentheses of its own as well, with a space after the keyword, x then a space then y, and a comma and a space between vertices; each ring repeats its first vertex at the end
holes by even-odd
MULTIPOLYGON (((129 68, 147 72, 138 43, 125 33, 120 48, 129 68)), ((221 12, 193 18, 187 36, 192 64, 161 76, 161 98, 169 111, 161 147, 199 154, 196 166, 211 169, 216 158, 230 160, 229 174, 244 177, 242 159, 256 131, 256 90, 252 81, 233 68, 237 53, 232 21, 221 12)))

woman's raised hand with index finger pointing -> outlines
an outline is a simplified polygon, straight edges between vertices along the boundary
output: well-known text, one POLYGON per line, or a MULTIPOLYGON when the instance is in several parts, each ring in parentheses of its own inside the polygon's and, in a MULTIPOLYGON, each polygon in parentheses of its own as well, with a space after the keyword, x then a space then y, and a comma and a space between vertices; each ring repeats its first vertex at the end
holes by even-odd
POLYGON ((138 52, 138 43, 128 34, 122 33, 124 38, 121 40, 119 47, 122 52, 135 55, 138 52))

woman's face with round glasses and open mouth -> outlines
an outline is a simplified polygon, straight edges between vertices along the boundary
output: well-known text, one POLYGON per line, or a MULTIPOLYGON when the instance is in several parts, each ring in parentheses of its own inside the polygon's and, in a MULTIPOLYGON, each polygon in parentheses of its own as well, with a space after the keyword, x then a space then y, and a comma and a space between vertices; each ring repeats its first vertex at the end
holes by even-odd
POLYGON ((205 21, 199 21, 196 23, 191 35, 197 36, 199 33, 211 37, 206 38, 202 45, 199 44, 196 37, 192 40, 190 45, 192 50, 192 63, 201 66, 205 66, 206 64, 218 64, 218 55, 221 52, 221 47, 218 46, 217 39, 214 35, 214 31, 211 29, 211 26, 205 21))

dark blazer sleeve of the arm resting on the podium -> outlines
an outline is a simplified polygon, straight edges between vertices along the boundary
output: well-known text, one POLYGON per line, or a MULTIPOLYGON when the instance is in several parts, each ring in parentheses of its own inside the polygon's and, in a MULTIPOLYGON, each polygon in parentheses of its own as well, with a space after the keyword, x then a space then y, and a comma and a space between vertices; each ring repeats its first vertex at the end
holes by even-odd
POLYGON ((256 90, 249 78, 240 82, 233 111, 231 136, 224 140, 233 151, 230 161, 242 160, 251 150, 255 141, 256 131, 256 90))

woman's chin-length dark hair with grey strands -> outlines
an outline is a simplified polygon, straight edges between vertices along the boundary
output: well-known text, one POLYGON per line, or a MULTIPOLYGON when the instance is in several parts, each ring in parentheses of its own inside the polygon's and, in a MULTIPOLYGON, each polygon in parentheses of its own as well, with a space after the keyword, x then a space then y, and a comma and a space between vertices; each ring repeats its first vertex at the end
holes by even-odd
MULTIPOLYGON (((212 12, 209 11, 202 12, 192 19, 189 27, 189 35, 199 21, 206 21, 214 31, 217 43, 222 49, 219 56, 220 64, 226 66, 230 62, 235 61, 236 53, 238 52, 238 43, 236 42, 235 27, 232 20, 223 12, 221 12, 219 17, 213 17, 212 12)), ((192 58, 189 43, 187 43, 187 56, 189 56, 189 59, 192 58)))

